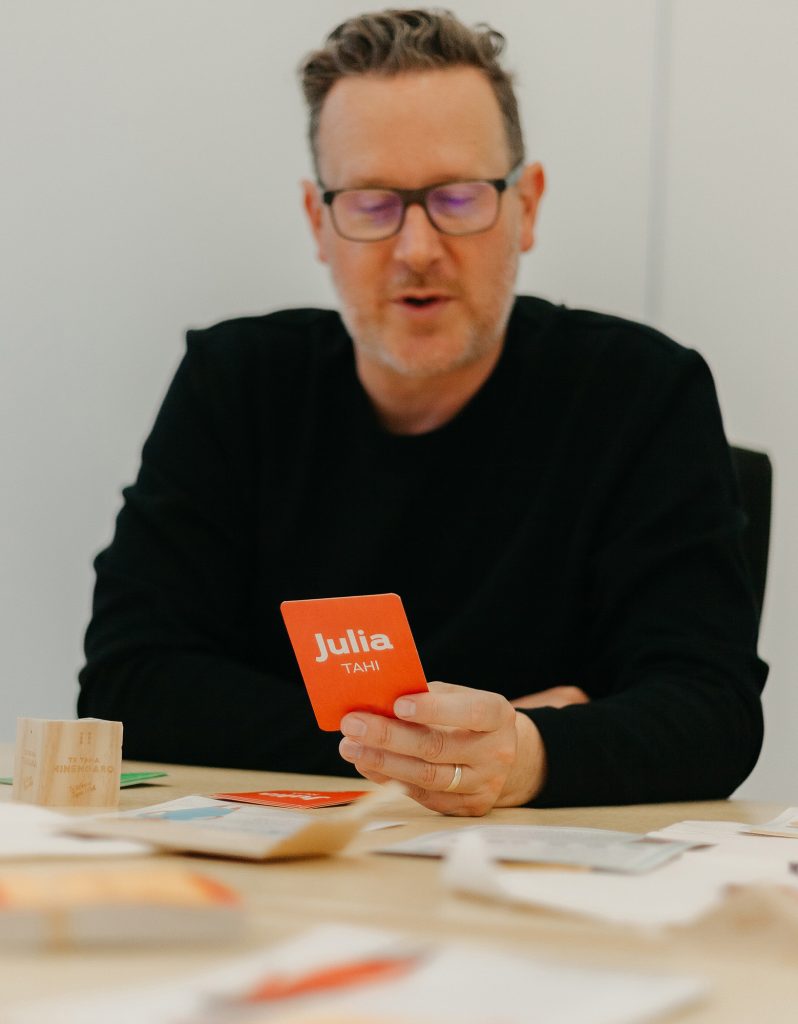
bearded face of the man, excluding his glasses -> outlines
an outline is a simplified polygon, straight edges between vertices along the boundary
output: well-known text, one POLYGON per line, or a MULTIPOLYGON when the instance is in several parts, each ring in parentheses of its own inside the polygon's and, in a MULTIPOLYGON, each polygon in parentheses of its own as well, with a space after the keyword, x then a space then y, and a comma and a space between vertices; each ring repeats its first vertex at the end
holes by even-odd
MULTIPOLYGON (((510 170, 498 102, 473 68, 344 78, 325 100, 318 144, 330 189, 422 188, 510 170)), ((495 359, 518 256, 533 244, 538 165, 504 193, 493 227, 465 237, 442 234, 414 205, 392 238, 348 241, 336 233, 316 186, 304 188, 319 257, 330 264, 361 369, 366 361, 425 379, 495 359)))

